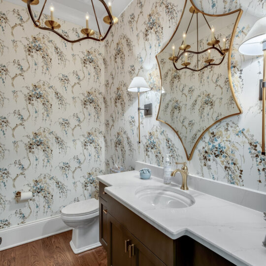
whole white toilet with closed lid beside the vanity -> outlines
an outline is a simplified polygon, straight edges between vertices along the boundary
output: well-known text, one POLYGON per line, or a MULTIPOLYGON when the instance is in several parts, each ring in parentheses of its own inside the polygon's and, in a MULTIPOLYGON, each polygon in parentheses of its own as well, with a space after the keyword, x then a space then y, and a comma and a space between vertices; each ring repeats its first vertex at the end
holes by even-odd
POLYGON ((99 200, 87 199, 67 205, 61 218, 73 228, 70 246, 75 254, 99 247, 99 200))

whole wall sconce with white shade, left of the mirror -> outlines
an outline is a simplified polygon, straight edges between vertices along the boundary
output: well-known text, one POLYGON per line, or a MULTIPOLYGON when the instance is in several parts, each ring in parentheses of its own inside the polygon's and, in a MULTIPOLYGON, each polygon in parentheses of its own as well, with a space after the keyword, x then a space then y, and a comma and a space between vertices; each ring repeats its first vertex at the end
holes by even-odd
POLYGON ((143 77, 134 77, 132 82, 130 83, 130 86, 128 88, 128 91, 130 92, 137 92, 137 100, 138 100, 138 143, 140 143, 140 122, 139 122, 139 116, 140 116, 140 110, 144 110, 144 115, 152 115, 152 103, 144 104, 144 108, 139 107, 139 94, 141 92, 147 92, 150 91, 150 88, 148 87, 147 82, 143 77))

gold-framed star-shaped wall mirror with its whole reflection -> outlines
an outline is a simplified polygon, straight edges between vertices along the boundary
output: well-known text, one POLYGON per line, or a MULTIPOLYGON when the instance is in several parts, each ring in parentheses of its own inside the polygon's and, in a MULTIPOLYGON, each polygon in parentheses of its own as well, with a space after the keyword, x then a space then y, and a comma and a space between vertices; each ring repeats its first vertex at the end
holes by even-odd
POLYGON ((185 0, 173 35, 156 55, 165 91, 157 120, 178 135, 188 160, 210 127, 242 113, 231 76, 233 37, 241 14, 241 9, 206 14, 193 0, 185 0))

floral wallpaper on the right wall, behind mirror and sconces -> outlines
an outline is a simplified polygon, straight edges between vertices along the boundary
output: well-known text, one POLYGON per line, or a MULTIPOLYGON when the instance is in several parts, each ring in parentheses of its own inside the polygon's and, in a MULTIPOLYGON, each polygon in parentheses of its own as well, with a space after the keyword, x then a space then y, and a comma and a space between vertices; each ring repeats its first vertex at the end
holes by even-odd
MULTIPOLYGON (((191 174, 266 192, 266 161, 261 155, 262 103, 258 100, 262 57, 243 56, 238 46, 257 19, 266 15, 261 0, 195 0, 206 13, 227 13, 242 8, 234 37, 231 73, 233 89, 243 114, 227 118, 204 134, 188 162, 191 174)), ((155 59, 179 21, 184 0, 133 0, 105 41, 109 64, 105 71, 106 164, 133 169, 134 162, 163 166, 166 154, 173 162, 186 161, 177 135, 156 120, 161 96, 159 68, 155 59), (140 117, 138 144, 137 94, 127 91, 134 76, 143 76, 151 91, 141 93, 140 105, 152 102, 153 115, 140 117)), ((218 75, 214 70, 214 74, 218 75)), ((186 92, 189 95, 189 91, 186 92)), ((169 114, 170 115, 170 114, 169 114)))

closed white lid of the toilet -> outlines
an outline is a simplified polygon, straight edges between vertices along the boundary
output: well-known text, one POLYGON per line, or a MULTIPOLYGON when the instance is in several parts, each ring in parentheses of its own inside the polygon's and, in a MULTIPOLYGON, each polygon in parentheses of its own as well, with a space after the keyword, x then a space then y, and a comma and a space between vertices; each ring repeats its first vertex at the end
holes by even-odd
POLYGON ((99 210, 98 199, 86 199, 71 203, 61 210, 67 216, 79 216, 97 212, 99 210))

